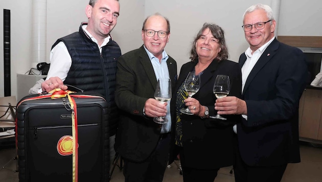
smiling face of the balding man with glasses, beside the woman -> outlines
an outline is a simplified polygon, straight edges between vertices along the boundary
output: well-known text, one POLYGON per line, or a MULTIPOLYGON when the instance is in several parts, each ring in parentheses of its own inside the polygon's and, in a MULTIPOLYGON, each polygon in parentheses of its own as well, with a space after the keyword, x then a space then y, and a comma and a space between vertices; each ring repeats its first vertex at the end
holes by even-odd
MULTIPOLYGON (((145 22, 144 30, 166 31, 168 32, 167 20, 160 15, 152 15, 145 22)), ((159 60, 162 58, 162 52, 169 42, 170 33, 165 38, 158 37, 155 32, 153 37, 149 37, 146 31, 142 30, 142 40, 147 50, 152 53, 159 60)))

